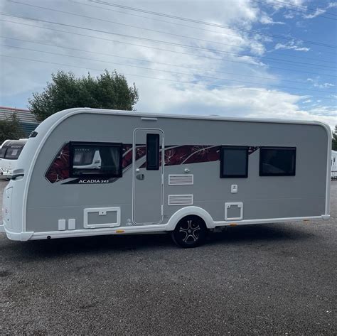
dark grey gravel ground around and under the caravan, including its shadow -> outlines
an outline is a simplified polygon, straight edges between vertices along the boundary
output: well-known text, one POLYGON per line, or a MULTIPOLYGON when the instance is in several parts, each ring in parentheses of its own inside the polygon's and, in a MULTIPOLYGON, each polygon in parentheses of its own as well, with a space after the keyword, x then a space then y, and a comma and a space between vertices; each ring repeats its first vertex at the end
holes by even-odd
POLYGON ((329 221, 232 227, 197 249, 0 234, 0 334, 336 335, 337 182, 331 205, 329 221))

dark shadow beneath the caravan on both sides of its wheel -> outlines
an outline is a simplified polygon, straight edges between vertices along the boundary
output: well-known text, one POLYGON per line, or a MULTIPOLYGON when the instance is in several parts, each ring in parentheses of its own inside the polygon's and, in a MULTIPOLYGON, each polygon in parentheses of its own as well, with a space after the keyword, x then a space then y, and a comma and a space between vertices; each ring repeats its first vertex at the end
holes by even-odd
MULTIPOLYGON (((285 242, 309 239, 312 234, 294 224, 263 224, 229 227, 223 232, 211 232, 205 246, 235 244, 260 244, 261 242, 285 242)), ((303 227, 302 227, 303 228, 303 227)), ((107 235, 49 239, 31 242, 9 242, 4 249, 15 250, 22 259, 53 258, 63 254, 100 254, 104 252, 179 249, 171 241, 170 234, 107 235)), ((4 249, 2 253, 4 253, 4 249)))

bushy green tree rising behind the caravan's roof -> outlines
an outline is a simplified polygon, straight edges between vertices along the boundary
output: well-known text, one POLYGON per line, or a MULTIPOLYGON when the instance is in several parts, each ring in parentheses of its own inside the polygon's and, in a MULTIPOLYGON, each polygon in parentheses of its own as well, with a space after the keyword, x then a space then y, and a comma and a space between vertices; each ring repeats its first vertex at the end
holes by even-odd
POLYGON ((136 86, 129 87, 124 75, 116 71, 105 70, 97 77, 89 73, 80 78, 73 72, 58 71, 51 77, 52 82, 43 92, 34 92, 33 98, 28 99, 29 109, 38 121, 73 107, 132 110, 138 101, 136 86))

